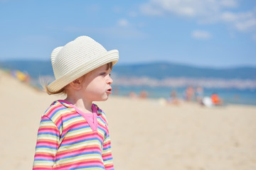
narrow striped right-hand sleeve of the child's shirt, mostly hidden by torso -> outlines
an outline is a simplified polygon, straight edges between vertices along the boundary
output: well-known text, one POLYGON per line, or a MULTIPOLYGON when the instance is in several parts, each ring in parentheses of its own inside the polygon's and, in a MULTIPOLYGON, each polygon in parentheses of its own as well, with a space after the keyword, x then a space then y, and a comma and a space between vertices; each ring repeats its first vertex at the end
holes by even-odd
MULTIPOLYGON (((107 127, 107 126, 106 126, 107 127)), ((105 140, 103 141, 103 151, 102 151, 102 159, 106 170, 113 170, 113 157, 112 157, 112 148, 111 148, 111 140, 110 135, 107 130, 107 135, 105 140)))

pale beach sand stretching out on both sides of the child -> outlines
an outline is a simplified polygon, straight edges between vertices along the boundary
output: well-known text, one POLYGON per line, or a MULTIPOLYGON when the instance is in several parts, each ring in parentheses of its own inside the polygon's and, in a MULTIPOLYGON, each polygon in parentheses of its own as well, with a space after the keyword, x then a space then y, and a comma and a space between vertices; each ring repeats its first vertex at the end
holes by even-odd
MULTIPOLYGON (((31 169, 48 96, 0 72, 0 169, 31 169)), ((164 106, 111 96, 96 102, 110 123, 115 169, 256 169, 256 106, 164 106)))

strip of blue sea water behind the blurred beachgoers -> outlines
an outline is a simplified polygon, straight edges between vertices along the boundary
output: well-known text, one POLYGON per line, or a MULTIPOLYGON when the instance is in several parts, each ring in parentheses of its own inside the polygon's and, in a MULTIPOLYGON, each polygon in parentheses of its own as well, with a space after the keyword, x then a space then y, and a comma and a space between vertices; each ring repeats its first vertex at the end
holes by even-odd
MULTIPOLYGON (((139 95, 140 91, 147 91, 149 98, 169 98, 172 90, 176 90, 177 97, 183 99, 186 88, 149 87, 149 86, 113 86, 113 94, 129 96, 131 91, 139 95)), ((204 96, 217 93, 225 104, 245 104, 256 106, 256 89, 203 89, 204 96)))

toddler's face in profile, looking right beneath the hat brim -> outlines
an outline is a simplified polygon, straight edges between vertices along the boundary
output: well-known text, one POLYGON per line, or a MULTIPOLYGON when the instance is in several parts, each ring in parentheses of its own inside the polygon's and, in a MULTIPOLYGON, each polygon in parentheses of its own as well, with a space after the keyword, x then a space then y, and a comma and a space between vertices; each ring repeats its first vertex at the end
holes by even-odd
POLYGON ((110 77, 111 69, 107 69, 107 64, 85 74, 82 81, 82 96, 86 101, 106 101, 112 94, 110 77))

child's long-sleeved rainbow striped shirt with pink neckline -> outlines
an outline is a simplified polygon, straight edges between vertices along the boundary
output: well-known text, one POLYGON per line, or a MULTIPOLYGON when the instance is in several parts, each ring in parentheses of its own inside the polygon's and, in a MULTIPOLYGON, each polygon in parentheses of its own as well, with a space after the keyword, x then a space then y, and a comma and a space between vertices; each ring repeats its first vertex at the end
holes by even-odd
POLYGON ((107 119, 92 104, 89 121, 67 101, 53 102, 41 118, 33 170, 114 169, 107 119))

